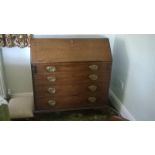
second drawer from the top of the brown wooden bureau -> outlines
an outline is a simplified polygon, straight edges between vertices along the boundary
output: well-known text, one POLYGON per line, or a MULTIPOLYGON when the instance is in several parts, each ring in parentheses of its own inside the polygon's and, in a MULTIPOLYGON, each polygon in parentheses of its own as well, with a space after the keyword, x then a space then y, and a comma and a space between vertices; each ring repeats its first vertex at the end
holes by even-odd
POLYGON ((104 73, 57 73, 55 75, 34 75, 35 84, 80 84, 80 83, 93 83, 93 82, 107 82, 110 79, 110 74, 104 73))

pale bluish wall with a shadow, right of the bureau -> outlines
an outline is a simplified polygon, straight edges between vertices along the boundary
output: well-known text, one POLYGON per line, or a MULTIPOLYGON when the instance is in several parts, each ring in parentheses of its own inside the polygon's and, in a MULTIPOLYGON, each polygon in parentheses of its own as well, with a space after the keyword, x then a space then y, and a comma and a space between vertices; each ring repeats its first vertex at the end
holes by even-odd
POLYGON ((111 90, 136 120, 155 120, 155 35, 115 36, 111 90))

